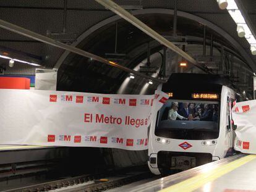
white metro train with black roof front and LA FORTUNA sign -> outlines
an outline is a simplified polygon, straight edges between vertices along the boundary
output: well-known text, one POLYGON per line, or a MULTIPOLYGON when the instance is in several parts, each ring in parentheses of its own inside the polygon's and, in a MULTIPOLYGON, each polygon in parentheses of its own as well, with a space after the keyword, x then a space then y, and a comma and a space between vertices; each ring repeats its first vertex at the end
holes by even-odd
POLYGON ((187 170, 233 152, 231 109, 237 94, 229 80, 220 75, 173 73, 161 86, 169 99, 149 131, 152 173, 187 170))

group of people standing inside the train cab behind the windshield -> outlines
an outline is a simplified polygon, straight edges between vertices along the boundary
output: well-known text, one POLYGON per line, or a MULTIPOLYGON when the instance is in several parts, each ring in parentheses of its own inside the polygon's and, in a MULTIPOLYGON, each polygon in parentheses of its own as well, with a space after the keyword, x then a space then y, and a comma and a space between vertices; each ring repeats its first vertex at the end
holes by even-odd
POLYGON ((171 109, 168 112, 168 120, 200 120, 200 121, 218 121, 218 106, 215 104, 195 104, 189 102, 171 103, 171 109), (178 110, 179 109, 179 110, 178 110))

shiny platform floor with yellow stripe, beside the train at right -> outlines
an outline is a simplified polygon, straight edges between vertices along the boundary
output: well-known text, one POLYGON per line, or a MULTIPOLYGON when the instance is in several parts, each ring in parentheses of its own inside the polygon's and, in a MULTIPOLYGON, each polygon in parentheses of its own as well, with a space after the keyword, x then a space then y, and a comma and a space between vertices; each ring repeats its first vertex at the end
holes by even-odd
POLYGON ((256 192, 256 155, 228 157, 129 191, 256 192))

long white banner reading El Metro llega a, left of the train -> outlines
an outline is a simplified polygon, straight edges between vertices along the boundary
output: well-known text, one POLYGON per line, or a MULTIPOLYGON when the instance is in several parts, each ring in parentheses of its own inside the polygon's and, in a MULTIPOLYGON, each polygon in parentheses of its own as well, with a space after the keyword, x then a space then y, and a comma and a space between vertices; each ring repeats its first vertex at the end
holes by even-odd
POLYGON ((0 90, 0 143, 147 149, 151 117, 167 98, 0 90))

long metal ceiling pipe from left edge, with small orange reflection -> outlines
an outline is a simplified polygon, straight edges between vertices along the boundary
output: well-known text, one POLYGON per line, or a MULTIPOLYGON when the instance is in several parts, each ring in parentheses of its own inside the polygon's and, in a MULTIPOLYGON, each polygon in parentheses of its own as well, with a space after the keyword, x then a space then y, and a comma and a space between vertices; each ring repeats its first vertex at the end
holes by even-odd
POLYGON ((137 75, 139 77, 147 78, 148 80, 156 81, 158 83, 164 83, 165 80, 160 80, 155 77, 151 77, 148 75, 144 75, 143 73, 137 72, 135 70, 129 69, 127 67, 124 67, 122 65, 117 64, 116 62, 109 61, 108 59, 105 59, 100 56, 96 56, 95 54, 92 54, 87 51, 83 51, 82 49, 75 48, 73 46, 70 46, 68 44, 61 43, 59 41, 53 40, 51 38, 48 38, 47 36, 40 35, 38 33, 35 33, 33 31, 27 30, 25 28, 19 27, 18 25, 14 25, 12 23, 6 22, 4 20, 0 19, 0 28, 4 28, 6 30, 12 31, 14 33, 18 33, 19 35, 27 36, 28 38, 32 38, 33 40, 41 41, 46 44, 51 44, 52 46, 55 46, 57 48, 65 49, 70 52, 74 52, 75 54, 79 54, 80 56, 92 58, 95 61, 102 62, 107 65, 111 65, 113 67, 116 67, 117 69, 121 69, 128 73, 133 73, 134 75, 137 75))

